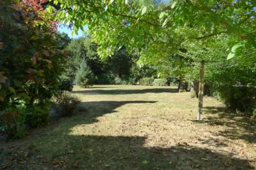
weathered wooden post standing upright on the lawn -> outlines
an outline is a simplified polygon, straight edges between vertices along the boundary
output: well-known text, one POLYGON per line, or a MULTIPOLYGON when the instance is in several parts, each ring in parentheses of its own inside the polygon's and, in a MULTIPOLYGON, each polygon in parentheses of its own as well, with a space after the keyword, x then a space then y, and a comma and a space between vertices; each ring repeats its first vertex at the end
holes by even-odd
POLYGON ((198 92, 198 114, 197 114, 197 120, 202 120, 203 98, 204 98, 204 61, 201 61, 199 92, 198 92))

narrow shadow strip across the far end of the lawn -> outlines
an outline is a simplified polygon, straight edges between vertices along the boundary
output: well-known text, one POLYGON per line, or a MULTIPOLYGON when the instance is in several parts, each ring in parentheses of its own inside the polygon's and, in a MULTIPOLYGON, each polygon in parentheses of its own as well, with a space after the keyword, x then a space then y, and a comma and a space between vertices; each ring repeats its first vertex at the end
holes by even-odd
POLYGON ((84 89, 72 91, 72 93, 82 93, 86 95, 129 95, 142 93, 177 93, 175 88, 152 88, 152 89, 84 89))

